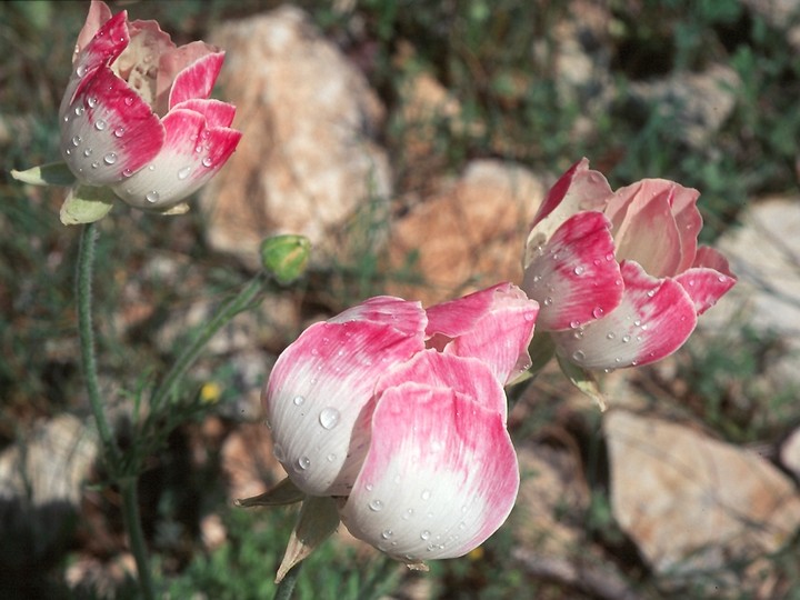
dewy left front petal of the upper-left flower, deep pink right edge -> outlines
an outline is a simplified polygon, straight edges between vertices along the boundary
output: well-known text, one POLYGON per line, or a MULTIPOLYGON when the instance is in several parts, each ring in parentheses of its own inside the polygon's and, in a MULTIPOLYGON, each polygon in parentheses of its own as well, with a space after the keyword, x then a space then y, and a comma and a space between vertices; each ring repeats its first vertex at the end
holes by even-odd
POLYGON ((166 132, 124 81, 101 67, 86 81, 61 122, 61 154, 83 183, 110 186, 150 162, 166 132))

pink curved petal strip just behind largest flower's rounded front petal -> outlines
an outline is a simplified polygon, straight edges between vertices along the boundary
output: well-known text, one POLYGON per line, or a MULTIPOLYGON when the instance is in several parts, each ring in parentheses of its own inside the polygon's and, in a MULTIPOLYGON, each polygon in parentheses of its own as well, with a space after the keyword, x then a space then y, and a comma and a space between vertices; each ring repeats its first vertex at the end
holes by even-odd
POLYGON ((503 422, 506 420, 508 406, 501 382, 489 366, 477 358, 442 354, 433 349, 423 350, 381 377, 376 386, 376 396, 407 381, 444 388, 474 398, 480 406, 501 414, 503 422))

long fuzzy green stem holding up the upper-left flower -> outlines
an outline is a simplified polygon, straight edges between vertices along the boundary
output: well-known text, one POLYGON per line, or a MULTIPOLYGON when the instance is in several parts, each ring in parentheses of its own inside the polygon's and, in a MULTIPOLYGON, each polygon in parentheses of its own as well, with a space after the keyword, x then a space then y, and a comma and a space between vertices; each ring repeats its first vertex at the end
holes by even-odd
POLYGON ((119 474, 123 470, 122 452, 111 431, 106 412, 103 411, 102 398, 100 397, 100 384, 98 380, 97 354, 94 351, 94 331, 92 329, 92 271, 94 267, 94 246, 97 242, 97 226, 88 223, 83 226, 78 250, 78 336, 80 338, 81 362, 83 364, 83 379, 86 381, 89 403, 91 406, 98 432, 102 442, 103 458, 109 466, 111 477, 118 480, 122 493, 122 512, 126 530, 130 540, 131 551, 139 572, 144 600, 154 600, 156 592, 148 564, 144 534, 141 528, 139 516, 139 503, 137 499, 137 478, 119 474))

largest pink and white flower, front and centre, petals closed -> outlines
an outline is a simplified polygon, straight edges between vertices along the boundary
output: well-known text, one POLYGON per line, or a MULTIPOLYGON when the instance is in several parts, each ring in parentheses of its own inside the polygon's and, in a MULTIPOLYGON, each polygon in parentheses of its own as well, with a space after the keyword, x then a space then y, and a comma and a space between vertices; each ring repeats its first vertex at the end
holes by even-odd
POLYGON ((276 457, 388 554, 469 552, 519 488, 503 384, 529 366, 537 311, 503 283, 427 311, 372 298, 311 326, 264 388, 276 457))

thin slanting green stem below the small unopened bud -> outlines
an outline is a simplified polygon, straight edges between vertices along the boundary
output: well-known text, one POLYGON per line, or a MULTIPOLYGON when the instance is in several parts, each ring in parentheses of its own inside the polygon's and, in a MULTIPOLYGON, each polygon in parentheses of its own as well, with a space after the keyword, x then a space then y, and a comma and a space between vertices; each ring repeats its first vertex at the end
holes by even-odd
POLYGON ((217 312, 217 316, 206 323, 206 326, 198 332, 191 343, 178 357, 178 360, 176 360, 172 368, 164 376, 163 381, 153 392, 151 400, 152 407, 161 406, 161 403, 174 391, 186 372, 200 356, 200 352, 206 343, 213 338, 220 329, 228 324, 233 317, 252 307, 253 301, 259 293, 264 290, 268 281, 269 276, 260 272, 250 280, 242 291, 222 304, 220 310, 217 312))

